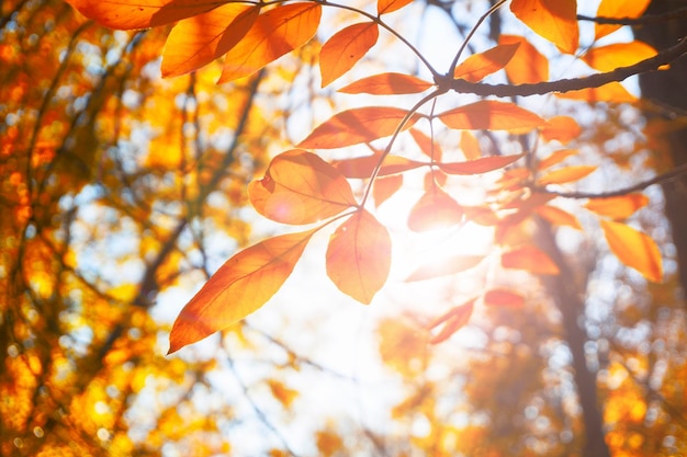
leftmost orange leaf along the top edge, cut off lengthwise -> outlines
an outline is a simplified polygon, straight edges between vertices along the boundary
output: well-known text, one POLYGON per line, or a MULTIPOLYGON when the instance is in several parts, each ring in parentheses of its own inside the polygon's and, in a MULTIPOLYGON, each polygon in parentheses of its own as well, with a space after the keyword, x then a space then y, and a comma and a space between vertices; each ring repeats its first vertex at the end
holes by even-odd
POLYGON ((221 3, 217 0, 67 0, 85 16, 110 28, 157 27, 202 14, 221 3))

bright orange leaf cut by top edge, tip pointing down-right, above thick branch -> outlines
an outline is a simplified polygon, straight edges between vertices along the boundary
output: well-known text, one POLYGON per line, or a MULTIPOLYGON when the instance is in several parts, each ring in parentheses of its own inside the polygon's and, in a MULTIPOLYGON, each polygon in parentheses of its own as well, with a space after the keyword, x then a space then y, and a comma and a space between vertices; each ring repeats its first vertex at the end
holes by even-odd
POLYGON ((510 11, 562 52, 575 54, 579 42, 576 0, 513 0, 510 11))

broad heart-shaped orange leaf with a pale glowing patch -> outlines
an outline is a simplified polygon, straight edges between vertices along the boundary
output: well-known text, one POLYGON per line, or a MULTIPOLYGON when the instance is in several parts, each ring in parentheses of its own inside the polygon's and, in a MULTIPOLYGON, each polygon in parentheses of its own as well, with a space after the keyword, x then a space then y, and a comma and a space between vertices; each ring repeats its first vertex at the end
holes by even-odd
POLYGON ((350 184, 312 152, 293 149, 272 159, 264 178, 248 186, 258 213, 283 224, 311 224, 356 206, 350 184))

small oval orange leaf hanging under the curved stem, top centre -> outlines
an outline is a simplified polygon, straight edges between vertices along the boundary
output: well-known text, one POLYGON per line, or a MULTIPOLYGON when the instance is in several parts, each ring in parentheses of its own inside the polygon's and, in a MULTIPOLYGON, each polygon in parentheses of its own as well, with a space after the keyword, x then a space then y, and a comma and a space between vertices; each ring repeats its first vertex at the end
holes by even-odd
POLYGON ((349 25, 337 32, 325 43, 319 52, 319 71, 322 87, 353 68, 368 50, 376 43, 380 31, 374 22, 349 25))

